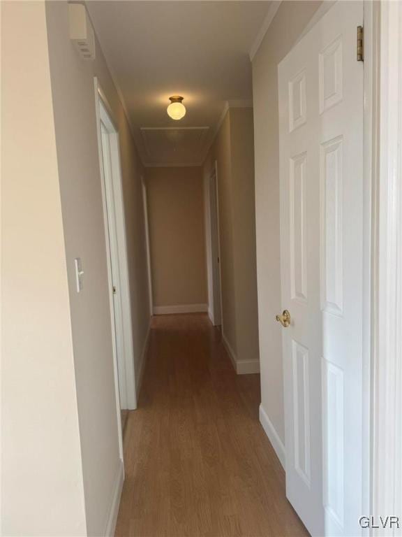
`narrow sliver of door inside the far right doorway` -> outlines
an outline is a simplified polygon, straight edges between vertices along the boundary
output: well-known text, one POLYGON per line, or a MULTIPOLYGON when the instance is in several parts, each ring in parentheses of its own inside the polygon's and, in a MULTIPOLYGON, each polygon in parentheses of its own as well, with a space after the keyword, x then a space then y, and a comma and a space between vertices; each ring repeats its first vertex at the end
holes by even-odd
POLYGON ((221 254, 219 248, 219 214, 218 214, 218 189, 216 172, 209 178, 209 215, 211 232, 211 260, 212 260, 212 296, 214 300, 213 312, 214 326, 222 322, 221 313, 221 254))

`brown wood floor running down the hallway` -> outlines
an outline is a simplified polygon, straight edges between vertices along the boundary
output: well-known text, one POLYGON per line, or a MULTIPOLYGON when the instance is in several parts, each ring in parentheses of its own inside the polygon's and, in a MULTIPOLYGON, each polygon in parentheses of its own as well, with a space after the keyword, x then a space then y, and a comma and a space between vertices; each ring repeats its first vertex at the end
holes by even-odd
POLYGON ((116 536, 307 536, 259 403, 260 375, 234 373, 206 315, 154 317, 116 536))

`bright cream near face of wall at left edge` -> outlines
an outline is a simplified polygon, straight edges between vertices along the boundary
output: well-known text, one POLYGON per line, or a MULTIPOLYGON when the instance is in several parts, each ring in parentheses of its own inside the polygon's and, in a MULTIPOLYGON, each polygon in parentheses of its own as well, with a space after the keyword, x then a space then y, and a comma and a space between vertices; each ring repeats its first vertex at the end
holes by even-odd
POLYGON ((86 533, 45 3, 1 3, 1 535, 86 533))

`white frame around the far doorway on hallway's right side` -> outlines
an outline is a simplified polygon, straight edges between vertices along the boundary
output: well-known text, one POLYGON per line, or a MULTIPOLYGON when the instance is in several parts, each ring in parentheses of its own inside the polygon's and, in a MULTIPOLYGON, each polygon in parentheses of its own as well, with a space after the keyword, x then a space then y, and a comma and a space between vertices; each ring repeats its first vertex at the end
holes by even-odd
POLYGON ((214 168, 211 170, 207 177, 207 219, 208 219, 208 226, 207 231, 209 233, 209 237, 207 237, 207 250, 208 255, 207 259, 209 259, 210 262, 210 273, 211 273, 211 281, 208 282, 208 285, 211 286, 211 289, 209 289, 209 296, 212 299, 212 303, 209 304, 209 317, 211 318, 212 324, 214 326, 221 325, 222 331, 223 331, 223 311, 222 311, 222 273, 221 273, 221 264, 222 264, 222 257, 221 257, 221 233, 220 233, 220 224, 219 224, 219 198, 218 198, 218 162, 214 162, 214 168), (215 178, 215 201, 216 201, 216 224, 212 222, 212 207, 211 207, 211 180, 212 178, 215 178), (216 229, 215 229, 216 228, 216 229), (212 250, 212 236, 213 234, 216 234, 216 245, 218 248, 218 258, 219 262, 216 259, 216 252, 213 252, 212 250), (220 301, 220 304, 216 302, 216 287, 218 287, 218 299, 220 301))

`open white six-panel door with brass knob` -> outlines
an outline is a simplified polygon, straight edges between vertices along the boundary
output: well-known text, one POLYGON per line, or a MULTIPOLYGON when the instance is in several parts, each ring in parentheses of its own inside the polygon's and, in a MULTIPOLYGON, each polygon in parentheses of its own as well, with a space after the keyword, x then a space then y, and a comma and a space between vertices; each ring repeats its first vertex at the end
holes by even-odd
POLYGON ((363 3, 278 68, 286 494, 313 536, 362 515, 363 3))

